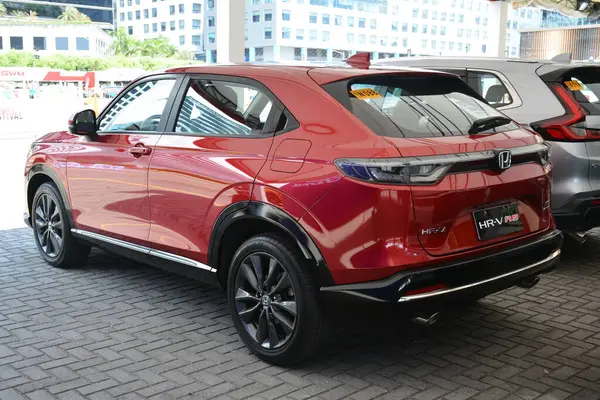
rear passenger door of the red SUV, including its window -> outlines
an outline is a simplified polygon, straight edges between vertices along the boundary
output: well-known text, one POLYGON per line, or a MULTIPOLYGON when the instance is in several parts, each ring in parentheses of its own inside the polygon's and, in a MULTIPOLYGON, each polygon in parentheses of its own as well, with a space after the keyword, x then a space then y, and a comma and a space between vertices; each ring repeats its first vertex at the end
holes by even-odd
POLYGON ((179 92, 150 165, 150 241, 206 263, 218 215, 250 200, 280 106, 265 86, 241 77, 193 75, 179 92))

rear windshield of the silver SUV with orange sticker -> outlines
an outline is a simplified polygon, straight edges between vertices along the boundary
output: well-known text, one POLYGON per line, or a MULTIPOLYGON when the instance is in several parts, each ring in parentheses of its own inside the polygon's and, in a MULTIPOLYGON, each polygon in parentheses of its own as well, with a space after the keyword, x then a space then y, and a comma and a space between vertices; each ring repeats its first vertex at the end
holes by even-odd
POLYGON ((588 115, 600 115, 600 68, 570 71, 563 76, 563 83, 588 115))

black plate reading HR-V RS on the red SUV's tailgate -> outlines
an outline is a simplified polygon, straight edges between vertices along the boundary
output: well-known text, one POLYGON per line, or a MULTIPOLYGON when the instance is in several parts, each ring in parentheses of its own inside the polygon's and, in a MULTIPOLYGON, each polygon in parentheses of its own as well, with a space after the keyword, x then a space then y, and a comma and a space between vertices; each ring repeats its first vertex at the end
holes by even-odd
POLYGON ((519 207, 512 203, 473 212, 479 240, 490 240, 523 230, 519 207))

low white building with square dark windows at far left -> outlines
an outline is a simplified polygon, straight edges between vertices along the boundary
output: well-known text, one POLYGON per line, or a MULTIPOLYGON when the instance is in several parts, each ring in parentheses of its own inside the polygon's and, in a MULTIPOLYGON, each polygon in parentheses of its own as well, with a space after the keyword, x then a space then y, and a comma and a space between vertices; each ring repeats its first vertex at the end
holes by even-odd
POLYGON ((0 52, 24 50, 40 55, 99 57, 108 54, 111 44, 111 36, 94 24, 45 24, 43 21, 19 24, 18 21, 0 19, 0 52))

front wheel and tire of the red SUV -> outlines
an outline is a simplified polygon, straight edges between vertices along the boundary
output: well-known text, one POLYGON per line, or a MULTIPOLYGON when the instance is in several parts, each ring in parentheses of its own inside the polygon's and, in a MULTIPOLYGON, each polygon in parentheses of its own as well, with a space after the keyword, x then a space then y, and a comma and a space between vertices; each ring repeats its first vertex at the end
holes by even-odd
POLYGON ((44 183, 35 192, 31 226, 38 251, 48 264, 73 268, 85 263, 91 247, 71 234, 68 211, 53 183, 44 183))

